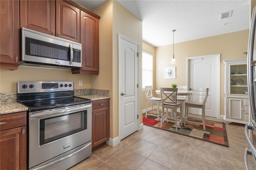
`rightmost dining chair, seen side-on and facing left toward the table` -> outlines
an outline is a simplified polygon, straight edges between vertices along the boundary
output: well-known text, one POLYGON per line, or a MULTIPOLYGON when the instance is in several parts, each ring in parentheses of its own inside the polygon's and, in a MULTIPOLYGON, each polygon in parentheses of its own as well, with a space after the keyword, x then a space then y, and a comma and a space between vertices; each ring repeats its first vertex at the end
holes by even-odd
POLYGON ((204 130, 206 130, 206 128, 205 128, 205 103, 208 98, 208 92, 209 92, 209 88, 206 87, 206 93, 205 93, 203 99, 200 99, 200 101, 186 101, 185 102, 184 126, 186 126, 186 122, 198 123, 195 121, 188 120, 188 118, 189 118, 188 117, 188 108, 189 107, 198 108, 198 109, 202 109, 202 122, 203 122, 203 123, 198 123, 198 124, 203 125, 204 130))

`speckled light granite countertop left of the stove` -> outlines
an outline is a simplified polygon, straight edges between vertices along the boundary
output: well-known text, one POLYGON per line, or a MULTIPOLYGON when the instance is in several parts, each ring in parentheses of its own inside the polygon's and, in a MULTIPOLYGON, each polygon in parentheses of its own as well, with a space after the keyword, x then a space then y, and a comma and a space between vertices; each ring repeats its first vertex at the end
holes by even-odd
POLYGON ((0 115, 22 111, 28 111, 28 108, 16 101, 0 103, 0 115))

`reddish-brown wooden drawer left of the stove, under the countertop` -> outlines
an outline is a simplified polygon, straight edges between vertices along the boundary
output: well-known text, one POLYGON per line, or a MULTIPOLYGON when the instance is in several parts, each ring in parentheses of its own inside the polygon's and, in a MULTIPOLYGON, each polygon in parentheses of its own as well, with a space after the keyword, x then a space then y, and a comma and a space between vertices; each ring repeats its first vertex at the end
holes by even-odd
POLYGON ((0 116, 0 122, 4 123, 0 125, 0 129, 7 130, 10 128, 16 128, 21 126, 27 125, 27 119, 26 119, 27 112, 20 112, 20 113, 10 113, 6 115, 0 116))

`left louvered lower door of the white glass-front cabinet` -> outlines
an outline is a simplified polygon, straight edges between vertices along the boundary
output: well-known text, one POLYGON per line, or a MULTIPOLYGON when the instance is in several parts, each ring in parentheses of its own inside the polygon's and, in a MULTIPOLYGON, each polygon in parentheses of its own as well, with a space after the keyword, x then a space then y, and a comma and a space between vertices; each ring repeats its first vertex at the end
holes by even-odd
POLYGON ((236 120, 243 120, 243 100, 244 99, 228 99, 228 118, 229 119, 236 119, 236 120))

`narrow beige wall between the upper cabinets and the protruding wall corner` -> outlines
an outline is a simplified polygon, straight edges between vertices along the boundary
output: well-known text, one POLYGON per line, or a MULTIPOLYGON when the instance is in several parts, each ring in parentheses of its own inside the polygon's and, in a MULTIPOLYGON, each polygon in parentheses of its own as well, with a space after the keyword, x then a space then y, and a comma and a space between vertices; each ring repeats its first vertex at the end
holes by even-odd
POLYGON ((110 138, 113 138, 113 77, 112 77, 112 1, 107 1, 92 12, 100 16, 100 74, 92 75, 92 88, 110 90, 110 138))

